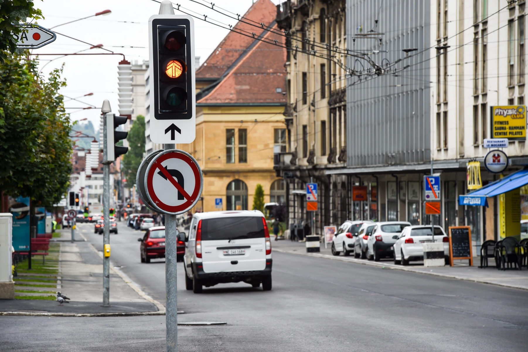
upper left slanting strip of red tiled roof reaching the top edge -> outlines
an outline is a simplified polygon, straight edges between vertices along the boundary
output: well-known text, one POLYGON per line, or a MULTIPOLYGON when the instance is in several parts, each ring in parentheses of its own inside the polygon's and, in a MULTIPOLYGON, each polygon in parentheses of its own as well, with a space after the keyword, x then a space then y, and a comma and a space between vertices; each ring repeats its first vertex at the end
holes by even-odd
MULTIPOLYGON (((276 12, 277 8, 270 0, 258 0, 244 14, 244 17, 246 17, 244 22, 264 23, 268 26, 275 21, 276 12)), ((260 34, 262 32, 262 30, 259 31, 258 27, 244 22, 239 21, 234 28, 249 33, 255 32, 260 34)), ((196 80, 219 79, 222 77, 223 73, 231 67, 233 62, 240 57, 244 49, 249 47, 252 42, 253 38, 229 32, 220 44, 218 44, 218 47, 209 55, 209 58, 196 70, 196 80)))

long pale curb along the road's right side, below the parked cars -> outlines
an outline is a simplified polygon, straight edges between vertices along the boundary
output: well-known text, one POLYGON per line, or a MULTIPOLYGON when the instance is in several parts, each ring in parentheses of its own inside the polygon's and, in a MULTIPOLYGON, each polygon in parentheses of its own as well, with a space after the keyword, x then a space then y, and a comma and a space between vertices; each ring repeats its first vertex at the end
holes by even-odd
POLYGON ((492 281, 487 281, 487 280, 468 279, 467 277, 460 277, 460 276, 455 276, 455 275, 448 275, 448 274, 440 274, 440 273, 435 273, 435 272, 425 272, 425 271, 420 271, 420 270, 413 270, 412 268, 402 267, 402 266, 399 266, 399 265, 389 264, 389 263, 381 264, 381 263, 370 262, 370 261, 365 261, 365 260, 356 259, 356 258, 339 257, 339 256, 333 256, 333 255, 329 255, 329 254, 284 251, 284 249, 277 249, 277 248, 274 248, 273 250, 276 251, 276 252, 280 252, 280 253, 306 255, 306 256, 310 256, 310 257, 324 258, 324 259, 340 261, 340 262, 369 265, 369 266, 374 266, 374 267, 378 267, 378 268, 382 268, 382 269, 401 270, 401 271, 407 271, 407 272, 411 272, 411 273, 426 274, 426 275, 432 275, 432 276, 440 276, 440 277, 444 277, 446 279, 456 279, 456 280, 464 280, 464 281, 470 281, 470 282, 485 283, 485 284, 490 284, 490 285, 495 285, 495 286, 507 287, 507 288, 511 288, 511 289, 518 289, 518 290, 528 291, 528 288, 526 288, 524 286, 502 284, 502 283, 492 282, 492 281))

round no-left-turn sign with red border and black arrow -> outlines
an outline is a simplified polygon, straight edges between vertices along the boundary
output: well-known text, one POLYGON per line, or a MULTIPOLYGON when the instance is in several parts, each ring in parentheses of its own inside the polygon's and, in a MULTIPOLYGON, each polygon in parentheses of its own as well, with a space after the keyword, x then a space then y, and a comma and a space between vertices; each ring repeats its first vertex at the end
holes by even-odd
POLYGON ((196 160, 181 150, 166 150, 150 161, 145 172, 148 200, 165 214, 190 210, 200 199, 203 175, 196 160))

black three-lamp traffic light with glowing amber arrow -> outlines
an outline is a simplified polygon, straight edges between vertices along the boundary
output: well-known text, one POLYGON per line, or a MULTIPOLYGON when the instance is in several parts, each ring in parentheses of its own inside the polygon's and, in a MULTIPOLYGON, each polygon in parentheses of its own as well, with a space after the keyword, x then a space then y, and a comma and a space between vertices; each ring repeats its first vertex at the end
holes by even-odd
POLYGON ((154 117, 156 119, 190 119, 193 117, 194 58, 192 45, 191 22, 188 18, 154 18, 152 20, 152 46, 150 48, 152 48, 154 77, 150 79, 154 83, 154 117))

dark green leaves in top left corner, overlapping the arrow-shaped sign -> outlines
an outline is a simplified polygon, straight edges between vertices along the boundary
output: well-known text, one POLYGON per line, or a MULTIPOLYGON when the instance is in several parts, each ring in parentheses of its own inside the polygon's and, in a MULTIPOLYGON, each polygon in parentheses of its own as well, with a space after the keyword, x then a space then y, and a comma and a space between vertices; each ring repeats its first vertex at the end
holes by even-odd
POLYGON ((33 6, 33 0, 0 0, 0 63, 10 59, 8 51, 17 52, 12 33, 21 34, 22 28, 16 24, 44 18, 33 6))

